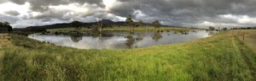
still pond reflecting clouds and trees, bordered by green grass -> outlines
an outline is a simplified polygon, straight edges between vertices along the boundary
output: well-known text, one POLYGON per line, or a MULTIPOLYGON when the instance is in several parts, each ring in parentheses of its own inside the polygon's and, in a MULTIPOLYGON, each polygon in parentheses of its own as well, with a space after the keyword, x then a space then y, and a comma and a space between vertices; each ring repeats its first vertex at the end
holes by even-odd
POLYGON ((191 30, 187 33, 174 31, 108 32, 102 35, 28 35, 29 38, 79 49, 131 49, 155 45, 177 44, 211 36, 216 32, 191 30))

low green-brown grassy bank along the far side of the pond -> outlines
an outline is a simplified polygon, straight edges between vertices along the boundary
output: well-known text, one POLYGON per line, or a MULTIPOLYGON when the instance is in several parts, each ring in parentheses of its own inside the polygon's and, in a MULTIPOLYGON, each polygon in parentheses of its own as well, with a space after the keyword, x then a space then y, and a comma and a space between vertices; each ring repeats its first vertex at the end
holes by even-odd
MULTIPOLYGON (((131 30, 131 27, 111 27, 111 28, 104 28, 102 29, 102 33, 109 33, 109 32, 137 32, 137 31, 170 31, 173 30, 175 32, 186 33, 189 30, 202 30, 202 29, 192 29, 192 28, 179 28, 179 27, 161 27, 160 29, 155 29, 154 27, 136 27, 131 30)), ((51 29, 47 30, 47 32, 43 32, 43 34, 55 34, 55 35, 71 35, 73 34, 74 28, 64 28, 64 29, 51 29)), ((91 30, 88 28, 82 28, 79 30, 79 33, 86 34, 86 33, 96 33, 95 30, 91 30)))

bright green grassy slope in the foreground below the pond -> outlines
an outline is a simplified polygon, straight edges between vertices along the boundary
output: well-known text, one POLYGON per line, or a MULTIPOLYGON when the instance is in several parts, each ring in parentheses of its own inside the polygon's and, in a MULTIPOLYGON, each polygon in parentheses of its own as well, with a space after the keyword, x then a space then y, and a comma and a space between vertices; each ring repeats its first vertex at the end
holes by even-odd
POLYGON ((222 32, 176 45, 102 51, 53 46, 11 35, 13 44, 0 49, 1 78, 255 81, 255 49, 233 35, 239 33, 222 32))

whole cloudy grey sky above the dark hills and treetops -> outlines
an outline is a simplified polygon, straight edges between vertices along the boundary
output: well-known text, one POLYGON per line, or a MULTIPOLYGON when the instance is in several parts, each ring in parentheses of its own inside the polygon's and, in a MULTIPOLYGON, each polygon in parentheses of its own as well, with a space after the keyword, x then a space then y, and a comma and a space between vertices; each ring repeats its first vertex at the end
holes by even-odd
POLYGON ((256 26, 256 0, 0 0, 0 22, 14 28, 100 19, 207 28, 256 26))

